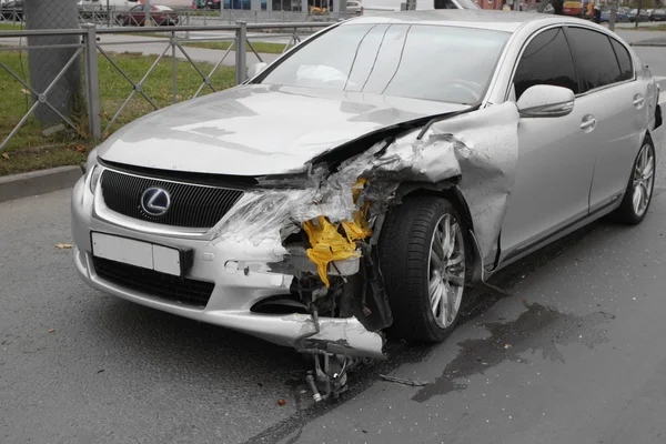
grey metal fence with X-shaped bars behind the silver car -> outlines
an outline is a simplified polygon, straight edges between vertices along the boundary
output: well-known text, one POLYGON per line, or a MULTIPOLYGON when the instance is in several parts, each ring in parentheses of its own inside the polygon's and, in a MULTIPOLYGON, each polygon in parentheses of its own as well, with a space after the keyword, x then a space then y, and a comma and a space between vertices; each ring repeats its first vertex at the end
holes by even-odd
MULTIPOLYGON (((206 92, 214 92, 221 88, 242 83, 246 78, 248 61, 270 62, 280 54, 265 54, 255 50, 260 43, 278 41, 276 44, 282 52, 290 47, 297 44, 304 36, 322 29, 330 23, 272 23, 254 24, 246 22, 236 22, 231 26, 214 27, 178 27, 167 29, 160 28, 123 28, 123 29, 98 29, 94 24, 84 24, 83 29, 78 30, 33 30, 33 31, 0 31, 0 82, 2 89, 9 81, 16 82, 17 89, 23 91, 27 100, 26 112, 23 117, 13 125, 11 131, 0 133, 0 152, 11 142, 12 138, 30 121, 38 107, 47 107, 57 112, 61 120, 61 127, 71 129, 75 137, 92 138, 100 140, 108 134, 114 125, 118 127, 119 118, 127 112, 128 105, 135 99, 141 99, 148 103, 151 110, 160 109, 160 103, 147 91, 145 84, 151 74, 157 70, 168 70, 169 81, 160 83, 162 105, 176 103, 182 100, 196 98, 206 92), (275 31, 273 33, 263 33, 265 30, 275 31), (49 85, 42 91, 36 90, 27 75, 19 73, 26 71, 23 61, 19 68, 11 65, 8 59, 2 59, 3 54, 24 54, 30 49, 49 48, 31 47, 26 44, 28 37, 39 36, 78 36, 80 42, 67 44, 63 47, 72 48, 73 56, 58 72, 49 85), (163 37, 160 37, 163 36, 163 37), (258 40, 261 40, 258 42, 258 40), (202 42, 216 43, 225 49, 205 49, 193 47, 202 42), (244 44, 243 44, 244 43, 244 44), (154 60, 144 72, 129 72, 125 63, 119 61, 119 58, 129 57, 133 51, 128 48, 137 48, 137 54, 154 57, 154 60), (198 52, 198 54, 193 54, 198 52), (124 54, 124 56, 123 56, 124 54), (202 58, 205 59, 202 61, 202 58), (81 60, 84 75, 83 97, 87 105, 87 113, 80 121, 74 121, 69 117, 62 115, 58 111, 57 103, 53 103, 52 91, 59 81, 67 73, 68 69, 75 61, 81 60), (189 69, 183 71, 182 65, 189 69), (120 75, 123 81, 123 91, 114 91, 114 103, 122 101, 118 109, 108 109, 101 100, 101 91, 104 84, 100 82, 100 67, 105 71, 112 70, 120 75), (233 68, 234 78, 230 84, 218 84, 213 81, 221 69, 229 71, 233 68), (186 79, 183 77, 186 75, 186 79), (191 88, 190 93, 184 97, 179 92, 179 83, 188 81, 190 84, 196 82, 196 88, 191 88), (169 100, 164 100, 164 99, 169 100), (29 101, 29 99, 32 99, 29 101), (31 103, 29 103, 31 102, 31 103), (87 123, 87 124, 85 124, 87 123)), ((273 47, 275 49, 275 47, 273 47)), ((278 52, 278 51, 274 51, 278 52)), ((13 59, 11 59, 13 60, 13 59)), ((135 68, 132 65, 132 68, 135 68)), ((135 70, 134 70, 135 71, 135 70)), ((162 81, 165 78, 162 79, 162 81)), ((16 107, 20 103, 6 103, 2 107, 16 107)), ((123 123, 120 121, 120 123, 123 123)), ((28 130, 28 129, 27 129, 28 130)), ((38 130, 39 131, 39 130, 38 130)))

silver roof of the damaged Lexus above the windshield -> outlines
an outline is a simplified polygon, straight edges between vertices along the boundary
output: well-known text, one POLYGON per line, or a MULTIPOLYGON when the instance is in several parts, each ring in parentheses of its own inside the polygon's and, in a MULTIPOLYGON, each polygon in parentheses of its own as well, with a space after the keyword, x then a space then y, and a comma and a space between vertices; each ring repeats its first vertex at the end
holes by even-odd
POLYGON ((342 23, 420 23, 451 27, 490 29, 495 31, 515 32, 526 23, 579 23, 582 19, 565 16, 553 16, 533 12, 491 11, 470 9, 435 9, 421 11, 384 12, 351 19, 342 23))

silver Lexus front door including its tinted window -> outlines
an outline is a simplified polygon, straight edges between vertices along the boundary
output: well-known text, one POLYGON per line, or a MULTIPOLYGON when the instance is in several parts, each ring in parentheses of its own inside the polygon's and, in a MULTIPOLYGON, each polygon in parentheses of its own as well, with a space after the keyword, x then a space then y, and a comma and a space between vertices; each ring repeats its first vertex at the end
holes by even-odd
MULTIPOLYGON (((561 27, 533 37, 518 60, 515 99, 536 84, 568 88, 579 94, 561 27)), ((591 103, 576 99, 568 115, 521 118, 515 182, 501 232, 501 261, 525 253, 587 215, 598 142, 591 113, 591 103)))

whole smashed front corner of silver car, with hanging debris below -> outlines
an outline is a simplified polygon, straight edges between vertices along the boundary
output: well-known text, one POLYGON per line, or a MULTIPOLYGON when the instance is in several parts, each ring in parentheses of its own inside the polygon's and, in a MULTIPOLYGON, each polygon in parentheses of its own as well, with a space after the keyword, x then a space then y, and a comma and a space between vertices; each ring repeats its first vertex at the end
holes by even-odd
POLYGON ((486 115, 433 121, 351 155, 334 151, 292 174, 264 176, 224 218, 213 243, 281 245, 279 260, 253 266, 293 276, 290 294, 263 307, 309 316, 291 345, 314 359, 307 382, 315 401, 346 390, 346 372, 364 357, 384 357, 382 331, 393 316, 377 242, 385 215, 405 194, 462 191, 470 219, 481 218, 467 228, 476 265, 495 254, 517 159, 517 113, 498 105, 473 114, 486 115), (487 119, 496 122, 491 135, 478 131, 487 119))

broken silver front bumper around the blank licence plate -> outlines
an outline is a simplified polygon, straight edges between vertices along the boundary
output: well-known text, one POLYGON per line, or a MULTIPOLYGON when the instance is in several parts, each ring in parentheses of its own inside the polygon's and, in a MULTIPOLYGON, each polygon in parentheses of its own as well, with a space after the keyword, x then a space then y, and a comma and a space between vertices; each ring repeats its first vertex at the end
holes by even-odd
POLYGON ((278 243, 254 245, 249 241, 226 240, 213 244, 215 228, 206 233, 186 234, 125 218, 103 205, 99 190, 93 196, 87 176, 74 185, 71 214, 75 268, 81 279, 94 289, 172 314, 244 332, 278 345, 384 357, 382 336, 367 331, 355 317, 320 317, 317 332, 310 315, 263 314, 250 310, 263 299, 290 293, 292 276, 272 273, 266 266, 282 259, 284 249, 278 243), (99 276, 93 265, 91 231, 192 250, 193 262, 186 278, 215 284, 208 304, 198 309, 169 302, 99 276))

